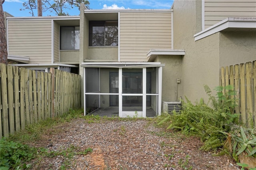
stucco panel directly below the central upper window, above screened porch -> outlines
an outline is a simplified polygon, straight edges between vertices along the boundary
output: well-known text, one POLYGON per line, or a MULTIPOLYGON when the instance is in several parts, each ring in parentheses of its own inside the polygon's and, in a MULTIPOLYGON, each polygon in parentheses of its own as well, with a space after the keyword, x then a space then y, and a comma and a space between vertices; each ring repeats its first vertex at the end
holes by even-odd
POLYGON ((118 60, 118 47, 89 47, 85 59, 118 60))

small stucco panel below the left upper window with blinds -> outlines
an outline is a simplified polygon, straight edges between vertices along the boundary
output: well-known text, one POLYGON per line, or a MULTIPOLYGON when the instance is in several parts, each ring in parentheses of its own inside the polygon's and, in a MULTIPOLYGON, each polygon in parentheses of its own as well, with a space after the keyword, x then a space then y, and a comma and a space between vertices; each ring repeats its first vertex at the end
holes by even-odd
POLYGON ((60 51, 60 62, 79 62, 79 50, 60 51))

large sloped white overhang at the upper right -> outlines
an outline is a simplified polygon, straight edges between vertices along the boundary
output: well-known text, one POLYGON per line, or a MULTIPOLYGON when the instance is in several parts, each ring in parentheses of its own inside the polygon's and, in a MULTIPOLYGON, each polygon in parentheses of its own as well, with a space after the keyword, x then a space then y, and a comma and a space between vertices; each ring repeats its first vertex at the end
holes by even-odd
POLYGON ((226 18, 221 22, 194 35, 195 41, 227 28, 256 28, 256 18, 226 18))

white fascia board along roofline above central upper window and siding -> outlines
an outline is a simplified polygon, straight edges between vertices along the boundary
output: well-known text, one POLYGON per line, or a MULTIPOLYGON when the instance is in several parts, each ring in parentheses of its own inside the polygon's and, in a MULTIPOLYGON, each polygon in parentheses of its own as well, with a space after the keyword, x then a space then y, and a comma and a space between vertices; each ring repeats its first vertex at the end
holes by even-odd
POLYGON ((120 9, 120 10, 84 10, 84 13, 114 13, 114 12, 173 12, 172 9, 120 9))

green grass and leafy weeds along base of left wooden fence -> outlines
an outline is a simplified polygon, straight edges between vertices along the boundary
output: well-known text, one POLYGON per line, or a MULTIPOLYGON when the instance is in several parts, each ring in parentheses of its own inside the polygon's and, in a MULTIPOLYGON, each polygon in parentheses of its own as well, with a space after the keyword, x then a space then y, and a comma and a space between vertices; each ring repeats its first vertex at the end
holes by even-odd
POLYGON ((91 148, 78 151, 78 148, 75 146, 70 146, 70 148, 61 152, 48 152, 46 148, 29 146, 30 143, 42 140, 43 136, 61 132, 63 129, 56 128, 57 126, 62 126, 78 118, 84 118, 82 109, 70 110, 68 113, 54 119, 46 119, 45 121, 34 123, 27 126, 24 130, 11 134, 9 138, 2 138, 0 140, 0 170, 28 169, 32 165, 26 164, 26 162, 34 158, 40 161, 45 156, 54 157, 59 155, 66 156, 67 162, 63 165, 65 167, 72 156, 92 152, 91 148))

